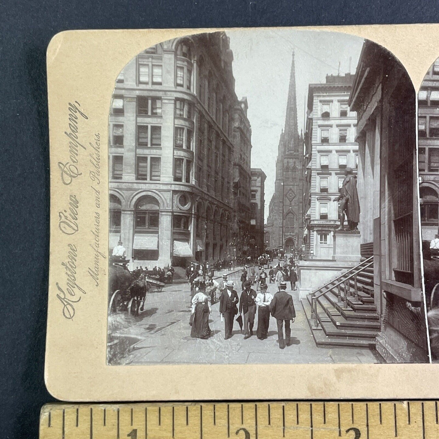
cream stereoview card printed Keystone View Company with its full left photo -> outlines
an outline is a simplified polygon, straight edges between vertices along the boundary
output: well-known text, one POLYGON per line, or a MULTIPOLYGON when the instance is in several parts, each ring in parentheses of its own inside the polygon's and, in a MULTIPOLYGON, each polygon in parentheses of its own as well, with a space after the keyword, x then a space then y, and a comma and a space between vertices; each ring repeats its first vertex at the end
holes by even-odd
POLYGON ((49 391, 437 396, 416 93, 438 36, 439 25, 54 36, 49 391))

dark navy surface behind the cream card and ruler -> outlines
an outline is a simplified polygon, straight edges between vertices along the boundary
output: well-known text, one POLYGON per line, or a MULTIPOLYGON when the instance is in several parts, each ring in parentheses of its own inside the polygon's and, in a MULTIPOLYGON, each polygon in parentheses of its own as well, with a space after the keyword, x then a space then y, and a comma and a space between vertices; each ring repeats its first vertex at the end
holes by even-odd
MULTIPOLYGON (((0 437, 37 438, 40 408, 53 401, 43 381, 50 189, 45 57, 52 36, 66 29, 417 22, 439 22, 435 0, 2 0, 0 437)), ((66 80, 74 80, 74 66, 71 72, 66 80)))

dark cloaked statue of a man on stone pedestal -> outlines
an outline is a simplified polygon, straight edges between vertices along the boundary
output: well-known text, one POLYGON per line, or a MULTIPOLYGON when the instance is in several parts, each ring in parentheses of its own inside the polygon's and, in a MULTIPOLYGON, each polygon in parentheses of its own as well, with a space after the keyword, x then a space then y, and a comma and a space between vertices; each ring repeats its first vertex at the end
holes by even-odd
POLYGON ((345 213, 348 219, 347 230, 358 230, 357 226, 360 222, 360 202, 358 201, 358 192, 356 190, 356 176, 353 169, 347 167, 345 169, 345 179, 340 188, 340 195, 334 198, 333 201, 339 201, 338 220, 340 227, 337 230, 346 230, 344 227, 345 213))

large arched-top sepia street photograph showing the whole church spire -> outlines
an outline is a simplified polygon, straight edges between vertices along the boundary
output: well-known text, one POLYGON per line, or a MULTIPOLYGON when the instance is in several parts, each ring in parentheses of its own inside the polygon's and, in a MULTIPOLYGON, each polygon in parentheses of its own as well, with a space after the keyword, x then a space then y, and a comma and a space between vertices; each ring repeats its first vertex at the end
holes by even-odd
POLYGON ((377 43, 233 29, 121 65, 107 363, 430 362, 420 250, 428 240, 439 255, 439 148, 421 146, 421 125, 437 137, 433 94, 419 94, 418 198, 416 93, 377 43))

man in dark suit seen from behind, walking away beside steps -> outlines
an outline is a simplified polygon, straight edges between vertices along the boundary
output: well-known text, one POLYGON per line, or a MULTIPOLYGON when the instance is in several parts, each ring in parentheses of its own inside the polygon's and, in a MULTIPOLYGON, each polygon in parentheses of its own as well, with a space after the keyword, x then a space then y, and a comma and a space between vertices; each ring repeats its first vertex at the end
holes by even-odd
POLYGON ((270 303, 271 315, 277 321, 277 339, 279 340, 279 347, 284 349, 285 345, 289 346, 291 341, 290 320, 294 323, 296 312, 294 309, 293 298, 285 290, 287 283, 281 281, 279 284, 279 291, 274 295, 270 303), (284 322, 285 322, 285 344, 284 344, 284 322))

